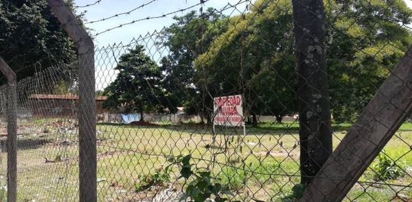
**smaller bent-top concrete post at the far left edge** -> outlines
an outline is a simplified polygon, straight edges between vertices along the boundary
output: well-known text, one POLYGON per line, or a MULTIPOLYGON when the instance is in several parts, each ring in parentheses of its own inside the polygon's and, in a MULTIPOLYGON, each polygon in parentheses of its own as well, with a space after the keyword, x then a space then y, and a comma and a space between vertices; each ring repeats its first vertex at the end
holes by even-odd
POLYGON ((17 92, 16 74, 0 57, 0 71, 8 81, 7 99, 7 201, 17 200, 17 92))

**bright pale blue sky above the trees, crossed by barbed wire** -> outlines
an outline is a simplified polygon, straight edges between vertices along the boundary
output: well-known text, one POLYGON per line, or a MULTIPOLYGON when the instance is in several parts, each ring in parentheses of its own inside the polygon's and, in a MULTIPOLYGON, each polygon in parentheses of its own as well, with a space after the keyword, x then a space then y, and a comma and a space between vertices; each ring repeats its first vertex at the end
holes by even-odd
MULTIPOLYGON (((163 27, 168 27, 174 23, 172 19, 173 16, 183 16, 190 10, 198 11, 199 8, 201 8, 200 5, 183 12, 176 12, 196 5, 200 3, 200 1, 205 1, 203 10, 209 7, 216 8, 216 10, 229 8, 225 10, 224 13, 229 16, 234 16, 244 12, 246 5, 255 0, 75 0, 75 3, 80 6, 78 12, 87 11, 85 13, 85 18, 88 21, 86 27, 93 29, 93 31, 91 31, 92 35, 98 34, 93 36, 93 38, 95 38, 95 47, 101 49, 108 45, 119 45, 120 42, 122 42, 122 45, 129 45, 133 38, 139 38, 139 36, 161 31, 163 27), (247 3, 238 4, 240 1, 247 1, 247 3), (82 8, 84 5, 90 6, 82 8), (130 13, 122 14, 124 12, 130 13), (169 14, 170 12, 176 13, 169 14), (109 18, 116 14, 119 14, 119 16, 109 18), (163 14, 168 15, 162 18, 155 18, 163 14), (109 19, 100 21, 104 18, 109 19), (150 19, 146 20, 145 18, 150 19), (132 21, 137 22, 124 25, 132 21), (123 26, 118 27, 119 25, 123 26), (114 27, 118 28, 113 29, 114 27), (107 29, 112 30, 106 31, 107 29)), ((405 0, 405 3, 407 3, 409 8, 412 8, 412 0, 405 0)), ((159 62, 161 53, 157 52, 153 47, 150 47, 150 45, 153 44, 152 41, 146 39, 146 42, 149 42, 149 44, 146 44, 146 52, 149 54, 155 53, 155 55, 151 56, 156 62, 159 62), (148 49, 150 49, 150 51, 148 49)), ((133 44, 131 44, 130 47, 117 49, 117 51, 96 53, 95 77, 97 90, 104 89, 111 81, 114 81, 117 76, 117 71, 114 70, 117 64, 116 61, 118 61, 119 56, 126 53, 127 49, 131 48, 132 45, 133 44)))

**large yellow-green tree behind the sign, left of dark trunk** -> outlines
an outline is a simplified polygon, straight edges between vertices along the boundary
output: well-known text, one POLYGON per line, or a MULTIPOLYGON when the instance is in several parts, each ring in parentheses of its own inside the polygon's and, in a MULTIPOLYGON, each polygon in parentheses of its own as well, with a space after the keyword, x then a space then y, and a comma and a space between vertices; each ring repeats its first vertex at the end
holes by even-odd
POLYGON ((229 19, 229 27, 196 59, 198 86, 212 94, 244 94, 246 114, 297 112, 290 3, 257 1, 251 12, 229 19), (292 70, 292 71, 291 71, 292 70))

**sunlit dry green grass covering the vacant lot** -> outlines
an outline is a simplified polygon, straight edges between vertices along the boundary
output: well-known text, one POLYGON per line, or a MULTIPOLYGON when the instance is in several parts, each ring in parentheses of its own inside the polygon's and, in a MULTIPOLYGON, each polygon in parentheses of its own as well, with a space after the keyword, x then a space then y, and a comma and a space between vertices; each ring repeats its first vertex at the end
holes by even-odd
MULTIPOLYGON (((32 135, 19 139, 25 141, 18 152, 18 201, 78 201, 77 135, 62 131, 60 127, 50 124, 52 122, 38 121, 42 124, 38 129, 35 125, 28 125, 32 135), (49 132, 39 136, 44 125, 47 125, 49 132), (34 140, 40 139, 47 141, 37 141, 36 147, 33 147, 34 140), (56 155, 68 157, 68 160, 45 163, 44 157, 52 159, 56 155)), ((350 129, 350 124, 334 124, 332 127, 336 147, 350 129)), ((262 123, 258 128, 247 127, 246 136, 242 129, 226 127, 216 127, 213 135, 210 128, 201 125, 99 123, 97 129, 98 201, 127 201, 145 197, 135 192, 139 175, 161 170, 168 165, 166 159, 170 155, 188 153, 192 153, 196 166, 211 169, 223 185, 231 188, 236 195, 233 199, 279 201, 299 183, 299 147, 296 147, 299 127, 296 122, 262 123)), ((412 123, 404 123, 385 150, 394 160, 411 166, 411 142, 412 123)), ((6 159, 5 153, 1 153, 0 175, 3 174, 3 184, 6 159)), ((374 181, 373 173, 369 168, 361 181, 374 181)), ((175 168, 170 175, 175 181, 179 171, 175 168)), ((377 188, 370 184, 356 184, 345 200, 387 201, 395 196, 394 190, 412 197, 412 179, 409 175, 385 181, 409 187, 384 185, 377 188)))

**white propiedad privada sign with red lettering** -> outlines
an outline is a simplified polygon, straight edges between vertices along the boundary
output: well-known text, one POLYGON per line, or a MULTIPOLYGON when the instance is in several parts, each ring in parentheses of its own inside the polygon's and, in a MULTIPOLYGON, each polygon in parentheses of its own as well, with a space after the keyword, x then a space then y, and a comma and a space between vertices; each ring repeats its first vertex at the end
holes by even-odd
POLYGON ((214 98, 214 125, 244 126, 242 95, 214 98))

